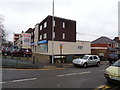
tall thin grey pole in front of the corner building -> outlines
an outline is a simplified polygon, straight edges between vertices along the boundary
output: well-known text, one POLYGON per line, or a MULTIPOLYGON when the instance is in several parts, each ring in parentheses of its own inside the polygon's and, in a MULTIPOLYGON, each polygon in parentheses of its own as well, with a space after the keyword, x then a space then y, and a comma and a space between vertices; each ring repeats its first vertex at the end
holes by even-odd
POLYGON ((52 64, 54 64, 54 0, 52 11, 52 64))

